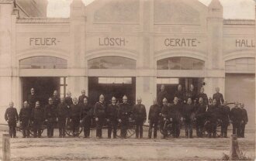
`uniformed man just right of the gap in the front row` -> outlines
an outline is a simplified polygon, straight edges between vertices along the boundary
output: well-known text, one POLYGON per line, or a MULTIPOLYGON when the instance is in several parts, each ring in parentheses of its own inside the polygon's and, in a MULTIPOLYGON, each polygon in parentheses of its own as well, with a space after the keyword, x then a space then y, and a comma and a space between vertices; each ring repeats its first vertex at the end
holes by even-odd
POLYGON ((161 107, 157 105, 157 99, 154 98, 153 105, 150 106, 150 111, 148 113, 148 138, 151 139, 152 128, 154 126, 154 139, 157 138, 157 125, 159 121, 159 117, 161 115, 161 107))

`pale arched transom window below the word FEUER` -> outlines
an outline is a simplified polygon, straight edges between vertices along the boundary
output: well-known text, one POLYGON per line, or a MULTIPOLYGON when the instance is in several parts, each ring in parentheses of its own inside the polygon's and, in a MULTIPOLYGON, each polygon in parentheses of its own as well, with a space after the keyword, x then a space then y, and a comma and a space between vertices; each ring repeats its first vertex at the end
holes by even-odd
POLYGON ((19 61, 21 69, 67 69, 67 60, 58 57, 29 57, 19 61))

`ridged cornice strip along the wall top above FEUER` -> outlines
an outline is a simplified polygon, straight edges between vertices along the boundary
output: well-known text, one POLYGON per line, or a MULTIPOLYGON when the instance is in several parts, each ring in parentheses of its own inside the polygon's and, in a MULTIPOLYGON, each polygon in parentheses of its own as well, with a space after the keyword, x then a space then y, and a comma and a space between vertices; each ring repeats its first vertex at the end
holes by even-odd
POLYGON ((17 23, 69 23, 70 19, 42 19, 42 18, 33 18, 33 19, 17 19, 17 23))

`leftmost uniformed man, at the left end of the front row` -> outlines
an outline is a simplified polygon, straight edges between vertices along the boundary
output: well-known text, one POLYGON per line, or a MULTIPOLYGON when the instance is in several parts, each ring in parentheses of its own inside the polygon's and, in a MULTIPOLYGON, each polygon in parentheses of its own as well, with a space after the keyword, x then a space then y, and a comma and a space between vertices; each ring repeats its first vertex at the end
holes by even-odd
POLYGON ((16 138, 16 125, 19 122, 19 115, 16 108, 14 108, 13 101, 9 103, 9 108, 5 111, 5 121, 9 125, 9 135, 11 138, 16 138))

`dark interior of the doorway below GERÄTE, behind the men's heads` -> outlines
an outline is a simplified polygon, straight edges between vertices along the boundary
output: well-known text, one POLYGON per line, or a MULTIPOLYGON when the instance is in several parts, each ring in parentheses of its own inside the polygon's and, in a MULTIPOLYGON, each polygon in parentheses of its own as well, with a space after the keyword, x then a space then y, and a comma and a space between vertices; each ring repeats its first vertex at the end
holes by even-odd
MULTIPOLYGON (((168 79, 170 77, 161 77, 160 79, 168 79)), ((158 79, 158 78, 157 78, 158 79)), ((203 78, 176 78, 178 79, 178 84, 182 84, 182 91, 188 91, 190 84, 193 84, 195 91, 199 92, 200 88, 203 86, 203 78)), ((172 102, 175 97, 175 91, 177 91, 178 84, 164 84, 165 90, 168 92, 168 102, 172 102)), ((160 91, 161 84, 157 84, 157 94, 160 91)))

